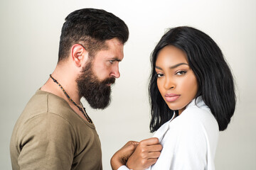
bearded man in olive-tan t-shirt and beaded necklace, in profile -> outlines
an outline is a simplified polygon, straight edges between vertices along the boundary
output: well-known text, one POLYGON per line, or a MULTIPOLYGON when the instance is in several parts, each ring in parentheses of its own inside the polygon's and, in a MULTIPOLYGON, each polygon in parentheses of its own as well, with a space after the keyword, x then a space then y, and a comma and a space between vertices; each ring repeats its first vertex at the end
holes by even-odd
POLYGON ((80 98, 92 108, 110 104, 128 36, 124 21, 104 10, 83 8, 65 18, 58 64, 14 127, 13 169, 102 169, 100 140, 80 98))

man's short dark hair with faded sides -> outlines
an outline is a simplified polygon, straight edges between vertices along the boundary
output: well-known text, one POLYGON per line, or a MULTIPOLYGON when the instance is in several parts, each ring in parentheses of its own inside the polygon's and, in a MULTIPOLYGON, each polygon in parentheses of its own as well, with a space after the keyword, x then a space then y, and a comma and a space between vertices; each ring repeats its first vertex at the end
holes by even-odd
POLYGON ((68 58, 70 48, 78 43, 85 47, 90 56, 105 48, 105 40, 117 38, 127 42, 127 25, 114 14, 95 8, 73 11, 65 18, 60 35, 58 62, 68 58))

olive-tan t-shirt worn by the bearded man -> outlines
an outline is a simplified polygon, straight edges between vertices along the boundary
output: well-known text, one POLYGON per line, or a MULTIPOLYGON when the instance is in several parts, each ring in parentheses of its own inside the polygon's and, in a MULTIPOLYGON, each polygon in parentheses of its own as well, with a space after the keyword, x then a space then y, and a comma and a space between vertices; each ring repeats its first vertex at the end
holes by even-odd
POLYGON ((102 169, 95 125, 68 103, 38 90, 18 118, 11 136, 13 169, 102 169))

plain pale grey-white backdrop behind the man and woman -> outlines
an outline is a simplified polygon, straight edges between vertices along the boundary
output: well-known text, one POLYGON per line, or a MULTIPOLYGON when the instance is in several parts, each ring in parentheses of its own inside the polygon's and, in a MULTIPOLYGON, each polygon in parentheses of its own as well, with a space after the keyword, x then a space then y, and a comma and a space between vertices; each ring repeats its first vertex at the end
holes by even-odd
POLYGON ((0 169, 11 169, 12 129, 29 98, 53 72, 58 58, 60 29, 65 16, 78 8, 103 8, 122 18, 129 41, 120 63, 121 77, 111 106, 95 111, 102 142, 103 166, 128 140, 149 133, 147 94, 149 55, 167 28, 193 26, 218 43, 233 69, 238 104, 225 132, 220 132, 216 169, 256 169, 256 1, 18 1, 0 2, 0 169))

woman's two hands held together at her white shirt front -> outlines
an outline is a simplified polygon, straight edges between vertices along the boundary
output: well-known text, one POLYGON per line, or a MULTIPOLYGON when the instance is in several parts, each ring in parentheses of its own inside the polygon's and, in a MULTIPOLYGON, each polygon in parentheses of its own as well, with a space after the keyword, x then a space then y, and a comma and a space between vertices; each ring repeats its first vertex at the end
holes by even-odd
MULTIPOLYGON (((124 145, 122 149, 119 149, 112 157, 111 164, 113 170, 117 170, 122 165, 126 165, 128 169, 133 170, 146 169, 156 163, 162 149, 156 137, 142 140, 139 142, 139 145, 135 147, 136 149, 134 146, 132 147, 132 145, 128 145, 128 147, 125 146, 126 145, 124 145), (129 159, 122 159, 122 157, 129 159)), ((126 167, 122 166, 121 169, 126 169, 126 167)))

